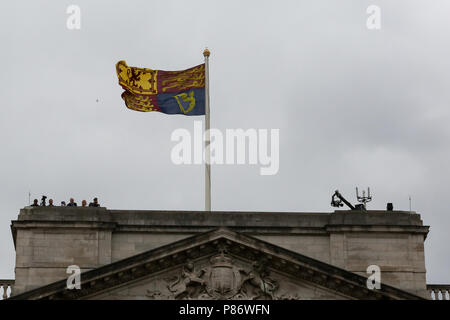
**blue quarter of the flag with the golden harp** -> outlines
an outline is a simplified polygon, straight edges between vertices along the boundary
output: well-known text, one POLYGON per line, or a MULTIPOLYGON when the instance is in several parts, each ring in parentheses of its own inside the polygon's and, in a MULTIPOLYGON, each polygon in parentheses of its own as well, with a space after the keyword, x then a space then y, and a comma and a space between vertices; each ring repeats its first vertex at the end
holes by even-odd
POLYGON ((189 89, 177 93, 158 93, 158 106, 167 114, 200 116, 205 114, 205 89, 189 89))

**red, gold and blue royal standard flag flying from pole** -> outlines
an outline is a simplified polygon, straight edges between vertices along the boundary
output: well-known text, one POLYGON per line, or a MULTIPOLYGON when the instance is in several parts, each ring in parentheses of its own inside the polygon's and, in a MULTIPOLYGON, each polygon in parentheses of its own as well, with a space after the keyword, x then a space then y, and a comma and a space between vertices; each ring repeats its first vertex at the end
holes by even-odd
POLYGON ((163 71, 116 65, 122 99, 129 109, 167 114, 205 114, 205 65, 183 71, 163 71))

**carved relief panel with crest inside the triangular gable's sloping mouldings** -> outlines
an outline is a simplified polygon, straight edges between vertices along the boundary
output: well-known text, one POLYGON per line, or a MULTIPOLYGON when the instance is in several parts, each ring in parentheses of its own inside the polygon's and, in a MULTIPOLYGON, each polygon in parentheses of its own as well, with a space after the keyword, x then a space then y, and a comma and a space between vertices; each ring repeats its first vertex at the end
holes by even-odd
MULTIPOLYGON (((261 261, 261 262, 260 262, 261 261)), ((352 299, 338 292, 219 252, 183 266, 85 297, 95 300, 310 300, 352 299)))

